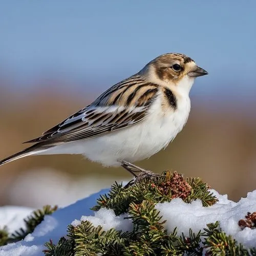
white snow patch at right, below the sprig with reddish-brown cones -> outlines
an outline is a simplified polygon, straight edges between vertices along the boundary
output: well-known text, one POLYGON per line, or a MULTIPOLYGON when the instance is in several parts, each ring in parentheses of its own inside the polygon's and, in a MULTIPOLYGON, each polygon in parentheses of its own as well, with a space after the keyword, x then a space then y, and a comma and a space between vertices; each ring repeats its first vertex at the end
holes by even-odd
POLYGON ((241 198, 238 203, 228 200, 226 195, 222 196, 213 189, 211 191, 219 202, 210 207, 203 207, 200 200, 187 204, 180 198, 173 199, 170 203, 157 204, 156 208, 163 219, 167 220, 167 230, 172 232, 178 227, 178 234, 183 232, 188 236, 189 228, 197 233, 203 230, 206 224, 219 221, 221 229, 227 235, 230 234, 247 248, 256 247, 256 229, 241 230, 238 225, 239 220, 244 219, 248 211, 256 211, 256 190, 248 193, 247 198, 241 198))

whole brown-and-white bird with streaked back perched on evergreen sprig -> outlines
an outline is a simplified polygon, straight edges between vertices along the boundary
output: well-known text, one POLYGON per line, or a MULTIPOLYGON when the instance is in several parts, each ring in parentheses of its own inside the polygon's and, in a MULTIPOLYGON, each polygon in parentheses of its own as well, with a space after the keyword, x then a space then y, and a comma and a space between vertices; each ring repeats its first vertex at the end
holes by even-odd
POLYGON ((207 74, 184 54, 160 55, 40 137, 24 142, 34 144, 0 165, 34 155, 81 154, 134 174, 134 162, 165 148, 183 129, 190 89, 196 77, 207 74))

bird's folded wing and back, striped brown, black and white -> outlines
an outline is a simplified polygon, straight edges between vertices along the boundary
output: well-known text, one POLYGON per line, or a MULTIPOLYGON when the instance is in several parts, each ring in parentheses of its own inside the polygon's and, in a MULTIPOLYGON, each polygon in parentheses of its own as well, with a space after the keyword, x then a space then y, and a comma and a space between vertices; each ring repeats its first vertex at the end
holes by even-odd
POLYGON ((24 143, 55 145, 90 139, 142 121, 158 88, 132 76, 111 87, 91 105, 78 111, 42 136, 24 143))

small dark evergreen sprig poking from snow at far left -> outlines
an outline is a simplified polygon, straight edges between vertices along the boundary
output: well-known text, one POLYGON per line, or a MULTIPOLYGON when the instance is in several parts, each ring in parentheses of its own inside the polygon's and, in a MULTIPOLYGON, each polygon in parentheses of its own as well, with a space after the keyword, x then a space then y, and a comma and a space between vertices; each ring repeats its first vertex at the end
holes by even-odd
POLYGON ((0 245, 6 245, 24 239, 27 234, 34 231, 35 227, 44 220, 46 215, 51 215, 56 209, 57 206, 51 207, 50 205, 46 205, 42 209, 34 210, 27 219, 24 219, 25 229, 20 228, 12 234, 8 233, 6 227, 0 229, 0 245))

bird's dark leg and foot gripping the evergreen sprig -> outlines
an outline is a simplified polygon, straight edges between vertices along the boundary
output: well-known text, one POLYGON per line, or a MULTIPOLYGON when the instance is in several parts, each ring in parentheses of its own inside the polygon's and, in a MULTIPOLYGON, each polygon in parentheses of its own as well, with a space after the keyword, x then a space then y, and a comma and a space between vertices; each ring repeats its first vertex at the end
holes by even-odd
POLYGON ((136 184, 142 179, 150 178, 154 180, 156 177, 160 176, 159 174, 155 174, 151 172, 151 170, 143 169, 135 164, 132 164, 126 161, 121 161, 121 166, 135 177, 135 180, 132 180, 129 183, 127 183, 125 185, 125 188, 136 184))

